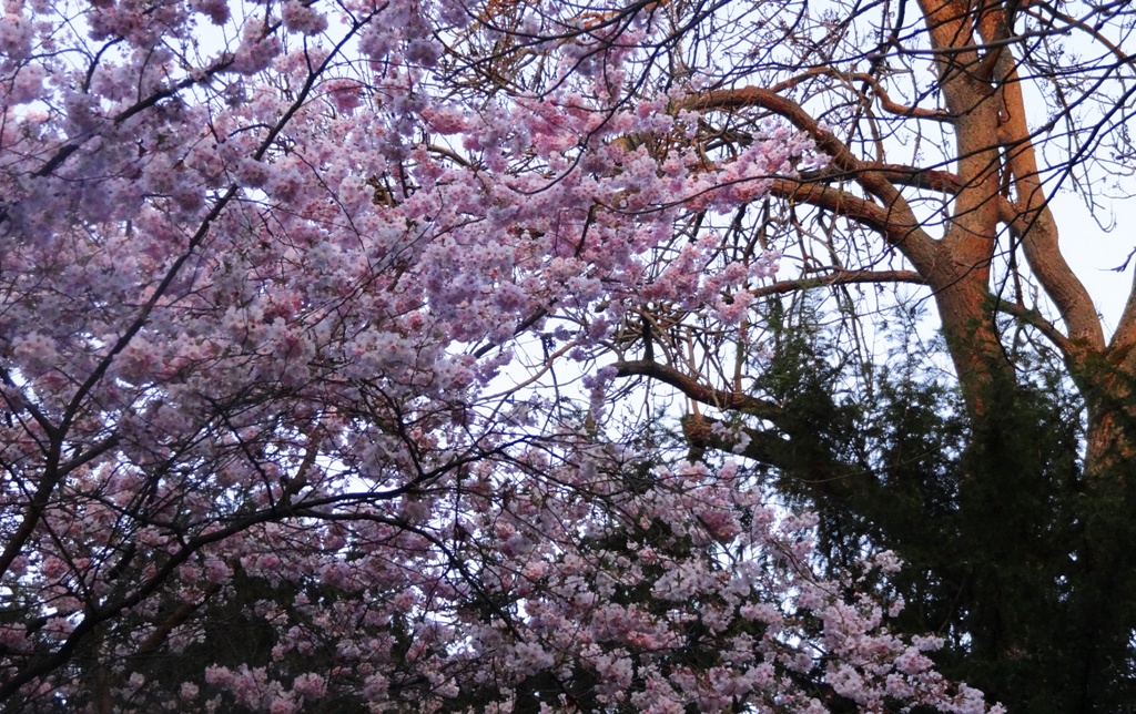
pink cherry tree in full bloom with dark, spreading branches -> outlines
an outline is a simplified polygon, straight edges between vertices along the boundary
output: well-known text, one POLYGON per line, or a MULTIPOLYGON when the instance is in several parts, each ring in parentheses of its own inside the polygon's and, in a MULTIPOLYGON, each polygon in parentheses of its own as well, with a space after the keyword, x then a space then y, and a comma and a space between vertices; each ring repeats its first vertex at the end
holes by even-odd
POLYGON ((501 394, 526 331, 736 326, 776 257, 683 217, 819 159, 684 143, 688 89, 626 89, 650 8, 521 18, 545 89, 471 91, 490 9, 6 0, 0 700, 983 711, 887 632, 886 558, 822 579, 736 465, 501 394))

